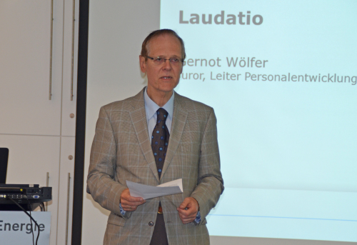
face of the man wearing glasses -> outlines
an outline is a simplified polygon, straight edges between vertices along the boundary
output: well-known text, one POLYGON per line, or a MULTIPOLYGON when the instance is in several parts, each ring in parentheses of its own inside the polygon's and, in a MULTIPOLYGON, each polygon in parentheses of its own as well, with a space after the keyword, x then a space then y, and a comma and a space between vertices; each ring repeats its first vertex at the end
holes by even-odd
MULTIPOLYGON (((164 59, 182 59, 181 44, 175 36, 161 35, 149 41, 148 56, 164 59)), ((148 94, 159 95, 171 92, 177 86, 182 72, 182 63, 177 65, 165 61, 164 64, 155 64, 153 60, 140 56, 140 68, 148 76, 148 94)))

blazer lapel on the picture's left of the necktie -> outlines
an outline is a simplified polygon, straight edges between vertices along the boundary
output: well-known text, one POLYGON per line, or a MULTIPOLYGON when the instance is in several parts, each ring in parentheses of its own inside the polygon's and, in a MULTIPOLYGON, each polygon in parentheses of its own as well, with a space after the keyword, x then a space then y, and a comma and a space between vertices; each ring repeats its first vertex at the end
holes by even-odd
POLYGON ((151 149, 148 124, 146 121, 144 90, 141 90, 139 94, 134 96, 134 99, 131 101, 131 105, 133 106, 133 109, 131 109, 129 113, 131 121, 134 125, 136 136, 138 137, 141 151, 143 151, 144 157, 149 164, 151 171, 153 172, 157 181, 159 181, 159 174, 157 172, 154 154, 151 149))

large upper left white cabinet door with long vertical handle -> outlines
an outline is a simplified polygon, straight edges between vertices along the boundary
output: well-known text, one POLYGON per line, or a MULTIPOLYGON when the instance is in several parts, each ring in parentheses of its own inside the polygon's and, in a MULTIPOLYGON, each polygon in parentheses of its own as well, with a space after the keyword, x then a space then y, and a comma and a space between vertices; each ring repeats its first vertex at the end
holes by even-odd
POLYGON ((63 3, 54 1, 53 41, 51 9, 0 1, 0 134, 60 134, 63 3))

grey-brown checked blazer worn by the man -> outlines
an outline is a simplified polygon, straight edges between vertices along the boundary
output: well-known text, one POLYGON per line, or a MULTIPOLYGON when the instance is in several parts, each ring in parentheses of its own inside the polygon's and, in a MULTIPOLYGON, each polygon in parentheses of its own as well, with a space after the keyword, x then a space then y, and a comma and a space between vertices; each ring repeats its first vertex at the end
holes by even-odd
POLYGON ((169 244, 209 244, 206 216, 223 192, 216 116, 211 107, 175 94, 169 146, 161 179, 151 149, 144 89, 136 96, 103 106, 91 148, 87 192, 109 209, 104 244, 150 244, 159 201, 169 244), (126 180, 157 186, 182 179, 183 193, 146 200, 124 216, 119 209, 126 180), (201 223, 182 224, 176 208, 192 196, 201 223))

